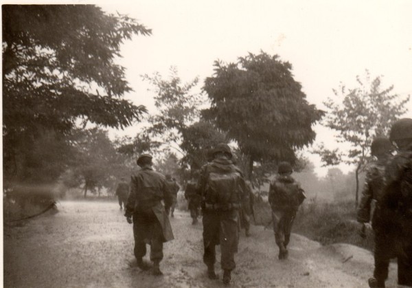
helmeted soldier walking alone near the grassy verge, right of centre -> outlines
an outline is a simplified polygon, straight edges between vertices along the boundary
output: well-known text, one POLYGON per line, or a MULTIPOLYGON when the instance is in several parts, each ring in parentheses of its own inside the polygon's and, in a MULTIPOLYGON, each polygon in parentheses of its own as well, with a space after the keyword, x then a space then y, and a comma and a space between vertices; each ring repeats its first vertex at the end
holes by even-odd
POLYGON ((299 206, 306 198, 304 190, 292 177, 292 166, 281 162, 277 169, 278 175, 269 186, 268 201, 272 208, 273 232, 279 247, 279 259, 288 258, 288 243, 290 231, 299 206))

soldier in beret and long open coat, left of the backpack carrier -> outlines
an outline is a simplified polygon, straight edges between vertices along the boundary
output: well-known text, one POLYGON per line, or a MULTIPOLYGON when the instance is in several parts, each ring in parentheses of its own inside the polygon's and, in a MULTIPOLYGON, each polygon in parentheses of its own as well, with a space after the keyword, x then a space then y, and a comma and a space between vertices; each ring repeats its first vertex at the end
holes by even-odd
POLYGON ((149 244, 152 274, 159 276, 162 274, 159 263, 163 259, 163 243, 174 239, 161 200, 169 208, 172 205, 172 195, 165 177, 152 169, 151 155, 141 155, 137 159, 137 165, 141 170, 132 176, 124 216, 128 223, 133 223, 137 266, 148 269, 142 258, 146 255, 146 244, 149 244))

